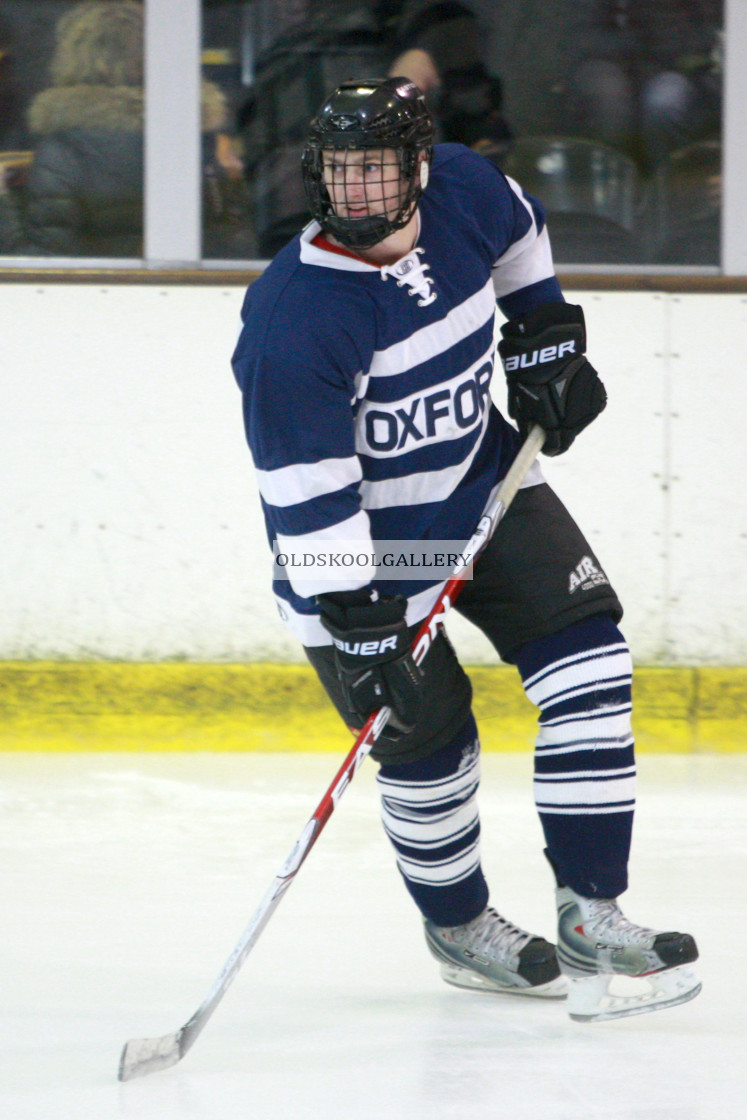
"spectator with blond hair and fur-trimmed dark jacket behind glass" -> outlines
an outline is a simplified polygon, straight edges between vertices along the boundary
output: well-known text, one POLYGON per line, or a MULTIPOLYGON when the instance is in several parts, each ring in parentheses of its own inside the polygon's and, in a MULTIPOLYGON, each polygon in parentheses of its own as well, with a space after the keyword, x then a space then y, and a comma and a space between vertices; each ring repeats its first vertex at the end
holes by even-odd
MULTIPOLYGON (((52 85, 29 106, 38 137, 24 190, 0 181, 0 252, 142 256, 143 8, 86 0, 56 29, 52 85)), ((203 85, 203 130, 225 99, 203 85)))

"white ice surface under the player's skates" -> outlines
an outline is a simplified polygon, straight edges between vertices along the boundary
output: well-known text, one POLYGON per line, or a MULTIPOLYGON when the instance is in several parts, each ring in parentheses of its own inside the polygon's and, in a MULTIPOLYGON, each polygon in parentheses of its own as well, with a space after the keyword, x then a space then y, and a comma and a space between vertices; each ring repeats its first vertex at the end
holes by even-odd
MULTIPOLYGON (((195 1011, 332 781, 334 755, 0 755, 8 1120, 712 1120, 743 1114, 747 756, 643 756, 633 921, 692 932, 703 991, 617 1023, 448 988, 366 762, 174 1068, 129 1038, 195 1011)), ((553 935, 531 758, 486 755, 492 903, 553 935)))

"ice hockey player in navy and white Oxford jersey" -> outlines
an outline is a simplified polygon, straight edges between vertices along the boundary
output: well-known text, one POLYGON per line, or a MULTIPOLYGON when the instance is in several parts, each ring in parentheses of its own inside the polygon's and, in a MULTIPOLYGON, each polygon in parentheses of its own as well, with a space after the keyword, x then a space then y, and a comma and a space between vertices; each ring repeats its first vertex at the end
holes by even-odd
MULTIPOLYGON (((310 122, 302 177, 312 221, 250 287, 233 358, 269 539, 286 554, 329 541, 356 556, 374 541, 466 541, 531 424, 560 455, 606 403, 542 208, 469 149, 433 147, 405 78, 335 90, 310 122), (519 431, 491 400, 502 321, 519 431)), ((443 584, 384 580, 373 564, 354 578, 288 571, 274 582, 281 617, 345 722, 391 708, 372 753, 383 822, 442 977, 568 993, 578 1019, 692 999, 693 939, 634 925, 617 903, 635 799, 632 661, 617 596, 539 465, 455 609, 539 708, 557 950, 488 906, 470 683, 442 629, 421 668, 410 653, 443 584), (617 974, 639 990, 616 992, 617 974)))

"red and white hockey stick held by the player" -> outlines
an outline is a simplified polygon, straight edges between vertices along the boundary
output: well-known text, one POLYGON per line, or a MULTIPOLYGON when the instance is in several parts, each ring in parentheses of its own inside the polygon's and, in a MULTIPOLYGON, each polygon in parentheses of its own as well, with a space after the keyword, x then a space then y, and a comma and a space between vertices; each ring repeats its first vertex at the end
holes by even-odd
MULTIPOLYGON (((463 560, 451 572, 428 618, 422 623, 412 645, 415 664, 421 664, 428 653, 449 607, 455 603, 471 568, 485 549, 495 528, 511 505, 527 470, 534 463, 544 442, 544 432, 539 426, 530 431, 503 482, 491 493, 485 512, 475 533, 463 553, 463 560)), ((260 937, 280 899, 293 881, 306 857, 319 839, 321 830, 332 816, 347 786, 353 781, 363 759, 371 752, 390 716, 389 708, 381 708, 366 720, 357 739, 351 747, 345 762, 337 771, 332 784, 314 811, 306 828, 296 841, 290 856, 274 877, 270 889, 260 903, 251 922, 241 935, 239 944, 223 965, 223 970, 204 1001, 185 1025, 170 1035, 160 1038, 132 1038, 125 1044, 120 1058, 119 1080, 130 1081, 157 1070, 167 1070, 179 1062, 194 1044, 200 1030, 225 996, 239 969, 260 937)))

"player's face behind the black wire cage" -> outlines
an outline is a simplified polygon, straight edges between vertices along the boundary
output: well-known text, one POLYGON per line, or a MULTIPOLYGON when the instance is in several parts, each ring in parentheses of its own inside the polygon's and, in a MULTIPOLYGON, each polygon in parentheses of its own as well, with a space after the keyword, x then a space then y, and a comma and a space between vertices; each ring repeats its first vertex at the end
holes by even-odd
POLYGON ((389 148, 324 152, 324 179, 335 213, 343 218, 395 217, 405 185, 389 148))

